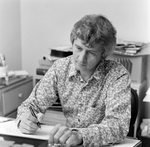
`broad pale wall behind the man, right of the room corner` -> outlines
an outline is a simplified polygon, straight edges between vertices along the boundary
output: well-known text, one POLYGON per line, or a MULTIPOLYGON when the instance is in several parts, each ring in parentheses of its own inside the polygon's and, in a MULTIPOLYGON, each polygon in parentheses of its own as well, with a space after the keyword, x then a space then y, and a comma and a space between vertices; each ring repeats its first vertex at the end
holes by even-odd
POLYGON ((35 75, 38 59, 49 54, 50 47, 70 45, 72 26, 85 14, 106 15, 118 38, 150 42, 149 4, 149 0, 21 0, 23 69, 35 75))

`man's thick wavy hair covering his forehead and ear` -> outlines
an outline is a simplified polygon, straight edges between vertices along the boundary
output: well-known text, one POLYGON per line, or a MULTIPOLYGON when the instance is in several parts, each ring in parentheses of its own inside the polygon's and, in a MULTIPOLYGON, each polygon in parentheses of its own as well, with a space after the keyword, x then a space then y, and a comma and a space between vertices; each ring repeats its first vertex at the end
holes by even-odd
POLYGON ((85 15, 74 24, 71 31, 72 44, 77 38, 81 39, 87 47, 100 44, 103 49, 102 56, 105 58, 115 49, 116 29, 103 15, 85 15))

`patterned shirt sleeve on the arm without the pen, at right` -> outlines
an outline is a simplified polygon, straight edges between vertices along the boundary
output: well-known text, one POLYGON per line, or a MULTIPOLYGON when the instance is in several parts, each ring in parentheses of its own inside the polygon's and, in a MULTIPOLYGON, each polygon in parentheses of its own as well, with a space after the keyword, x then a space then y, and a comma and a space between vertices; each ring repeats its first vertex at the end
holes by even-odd
POLYGON ((112 82, 105 99, 105 117, 99 124, 76 128, 83 137, 83 146, 99 147, 120 143, 127 136, 131 118, 131 88, 128 74, 112 82))

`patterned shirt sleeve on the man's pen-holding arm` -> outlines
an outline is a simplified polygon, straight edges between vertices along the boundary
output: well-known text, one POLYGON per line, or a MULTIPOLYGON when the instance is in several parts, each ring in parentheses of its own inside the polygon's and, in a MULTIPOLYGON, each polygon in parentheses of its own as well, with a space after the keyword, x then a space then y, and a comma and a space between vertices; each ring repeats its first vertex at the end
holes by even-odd
POLYGON ((45 113, 57 100, 57 76, 55 72, 55 64, 51 66, 45 76, 35 85, 30 96, 18 107, 17 119, 29 111, 29 106, 32 105, 36 113, 45 113))

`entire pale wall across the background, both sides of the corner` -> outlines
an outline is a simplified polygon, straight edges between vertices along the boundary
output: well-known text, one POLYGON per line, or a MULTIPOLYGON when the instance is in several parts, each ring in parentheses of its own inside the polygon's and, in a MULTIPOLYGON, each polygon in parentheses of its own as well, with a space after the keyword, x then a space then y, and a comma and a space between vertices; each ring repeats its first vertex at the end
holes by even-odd
MULTIPOLYGON (((70 45, 73 24, 83 15, 102 13, 118 38, 150 42, 149 0, 0 0, 0 53, 10 70, 35 75, 38 59, 52 46, 70 45)), ((148 59, 150 86, 150 57, 148 59)))

